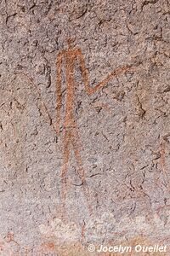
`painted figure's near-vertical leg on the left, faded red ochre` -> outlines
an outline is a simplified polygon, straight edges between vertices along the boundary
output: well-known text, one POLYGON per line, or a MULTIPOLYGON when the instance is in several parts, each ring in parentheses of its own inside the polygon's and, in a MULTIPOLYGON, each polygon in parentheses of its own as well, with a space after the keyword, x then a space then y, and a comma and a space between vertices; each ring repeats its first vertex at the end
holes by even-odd
MULTIPOLYGON (((71 132, 65 131, 64 143, 63 143, 63 166, 61 170, 61 213, 65 214, 65 199, 67 193, 66 173, 68 171, 68 164, 71 155, 71 132)), ((64 217, 64 216, 62 216, 64 217)))

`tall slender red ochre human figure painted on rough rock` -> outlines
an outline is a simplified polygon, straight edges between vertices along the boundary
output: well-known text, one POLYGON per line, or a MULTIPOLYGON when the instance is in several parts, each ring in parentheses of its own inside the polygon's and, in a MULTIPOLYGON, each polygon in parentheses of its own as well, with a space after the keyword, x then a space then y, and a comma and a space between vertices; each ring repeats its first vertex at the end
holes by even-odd
POLYGON ((66 174, 68 171, 69 160, 71 157, 71 150, 73 149, 75 158, 77 160, 77 173, 82 181, 82 188, 84 190, 84 195, 88 200, 88 209, 89 212, 92 212, 90 207, 89 199, 89 191, 86 184, 85 173, 82 166, 82 158, 81 158, 81 146, 80 140, 77 131, 77 123, 74 118, 74 107, 75 107, 75 90, 76 90, 76 82, 74 79, 74 73, 77 61, 80 65, 80 69, 82 71, 82 81, 85 85, 85 90, 88 95, 92 95, 97 90, 105 86, 109 82, 110 79, 118 75, 119 73, 126 72, 131 66, 125 66, 117 68, 113 73, 111 73, 106 79, 104 79, 101 83, 97 84, 94 88, 90 87, 89 79, 88 79, 88 70, 85 66, 85 61, 82 55, 81 49, 75 49, 71 47, 71 43, 73 40, 68 39, 69 48, 63 50, 57 56, 57 127, 56 131, 59 135, 59 124, 61 121, 61 106, 62 106, 62 66, 65 68, 65 83, 66 83, 66 103, 65 103, 65 118, 63 125, 63 166, 61 170, 61 178, 62 178, 62 189, 61 189, 61 203, 62 209, 65 212, 65 199, 67 193, 67 183, 66 183, 66 174))

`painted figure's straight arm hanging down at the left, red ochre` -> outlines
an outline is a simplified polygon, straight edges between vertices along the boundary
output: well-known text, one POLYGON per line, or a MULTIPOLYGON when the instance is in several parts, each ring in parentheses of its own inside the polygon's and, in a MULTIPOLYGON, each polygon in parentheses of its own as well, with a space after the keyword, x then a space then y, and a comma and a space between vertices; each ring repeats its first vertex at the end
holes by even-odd
POLYGON ((56 79, 56 94, 57 94, 56 132, 57 132, 58 135, 59 135, 59 123, 60 123, 60 109, 61 109, 61 105, 62 105, 62 92, 61 92, 61 80, 62 80, 61 65, 62 65, 62 57, 63 57, 63 54, 59 53, 59 55, 57 56, 57 61, 56 61, 56 68, 57 68, 57 79, 56 79))

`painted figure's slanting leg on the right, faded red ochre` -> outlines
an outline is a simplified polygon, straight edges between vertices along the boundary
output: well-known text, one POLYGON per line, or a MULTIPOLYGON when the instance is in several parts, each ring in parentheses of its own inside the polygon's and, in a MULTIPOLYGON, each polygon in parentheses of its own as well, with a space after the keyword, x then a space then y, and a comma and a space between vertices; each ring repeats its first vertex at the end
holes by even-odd
POLYGON ((84 195, 86 196, 86 199, 88 201, 88 210, 90 214, 92 214, 92 207, 90 205, 90 193, 88 191, 87 183, 86 183, 86 178, 85 178, 85 173, 82 165, 82 158, 81 158, 81 144, 80 144, 80 138, 78 136, 78 131, 77 127, 74 128, 74 131, 72 131, 72 140, 71 140, 74 154, 77 160, 77 166, 78 166, 78 176, 81 178, 82 181, 82 188, 84 191, 84 195))

